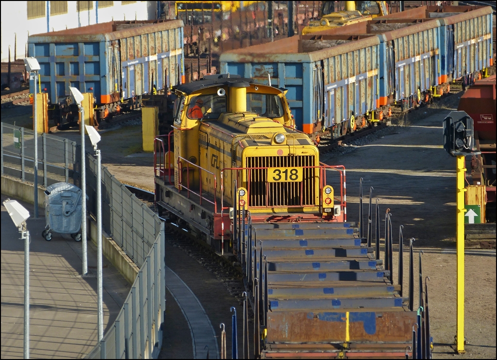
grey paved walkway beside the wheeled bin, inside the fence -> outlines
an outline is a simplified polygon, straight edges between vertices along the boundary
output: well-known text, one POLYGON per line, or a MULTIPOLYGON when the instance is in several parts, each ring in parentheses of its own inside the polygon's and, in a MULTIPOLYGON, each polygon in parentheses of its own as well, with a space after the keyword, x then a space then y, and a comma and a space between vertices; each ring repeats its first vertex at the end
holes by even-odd
MULTIPOLYGON (((1 196, 1 201, 6 199, 1 196)), ((21 203, 33 216, 33 206, 21 203)), ((40 211, 40 216, 43 212, 40 211)), ((54 234, 45 218, 28 219, 30 244, 30 356, 82 358, 96 345, 96 249, 88 242, 89 275, 82 277, 81 242, 54 234)), ((130 285, 103 259, 104 332, 130 285)), ((24 241, 1 207, 1 358, 23 357, 24 241)))

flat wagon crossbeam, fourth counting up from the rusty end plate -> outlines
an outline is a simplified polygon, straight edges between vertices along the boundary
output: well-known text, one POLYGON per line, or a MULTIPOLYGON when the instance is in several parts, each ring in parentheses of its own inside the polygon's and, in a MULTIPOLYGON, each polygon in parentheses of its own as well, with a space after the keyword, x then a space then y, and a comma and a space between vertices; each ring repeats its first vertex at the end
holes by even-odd
POLYGON ((279 272, 323 272, 337 270, 377 270, 377 266, 382 265, 383 260, 351 259, 336 261, 316 261, 316 262, 268 262, 268 271, 279 272))

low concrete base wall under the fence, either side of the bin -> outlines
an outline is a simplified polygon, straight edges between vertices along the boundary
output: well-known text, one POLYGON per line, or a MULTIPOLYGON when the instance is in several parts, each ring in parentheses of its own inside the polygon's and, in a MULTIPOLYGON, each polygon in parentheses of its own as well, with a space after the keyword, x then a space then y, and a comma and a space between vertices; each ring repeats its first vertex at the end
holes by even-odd
MULTIPOLYGON (((38 204, 40 208, 44 207, 44 191, 45 189, 38 188, 38 204)), ((2 175, 1 193, 29 204, 34 203, 34 185, 22 182, 19 179, 2 175)), ((96 221, 94 218, 89 217, 87 224, 89 230, 87 234, 96 246, 96 221)), ((140 269, 105 231, 102 231, 102 253, 119 270, 121 275, 130 284, 133 284, 140 269)))

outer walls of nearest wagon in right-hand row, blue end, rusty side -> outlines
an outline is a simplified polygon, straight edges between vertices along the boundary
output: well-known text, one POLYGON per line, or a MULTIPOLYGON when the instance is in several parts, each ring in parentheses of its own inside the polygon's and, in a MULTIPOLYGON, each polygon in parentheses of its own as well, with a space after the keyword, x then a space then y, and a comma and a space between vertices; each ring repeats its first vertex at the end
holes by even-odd
MULTIPOLYGON (((362 44, 353 41, 332 50, 266 54, 260 62, 254 59, 256 55, 244 54, 240 62, 232 60, 238 54, 222 55, 221 72, 253 77, 263 84, 268 83, 269 74, 273 86, 288 90, 286 98, 297 129, 312 134, 352 114, 357 117, 378 108, 379 41, 362 44), (267 61, 271 57, 274 62, 267 61), (304 61, 310 57, 313 61, 304 61)), ((245 50, 250 52, 250 48, 245 50)))

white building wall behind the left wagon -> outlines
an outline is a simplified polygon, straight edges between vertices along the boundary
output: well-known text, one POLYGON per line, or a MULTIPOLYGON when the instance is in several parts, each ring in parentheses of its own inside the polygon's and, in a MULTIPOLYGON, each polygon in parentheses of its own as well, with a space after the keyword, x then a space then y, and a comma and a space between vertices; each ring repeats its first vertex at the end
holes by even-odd
MULTIPOLYGON (((46 1, 45 6, 46 6, 46 1)), ((153 20, 156 18, 157 1, 136 1, 122 5, 122 1, 114 1, 114 5, 98 9, 98 22, 112 20, 153 20)), ((71 29, 96 23, 96 1, 93 9, 78 12, 76 1, 68 1, 67 14, 27 19, 27 1, 1 1, 1 62, 14 60, 14 44, 17 44, 17 59, 24 58, 28 33, 30 35, 49 31, 71 29), (15 42, 17 34, 17 42, 15 42)), ((45 12, 48 12, 45 10, 45 12)))

